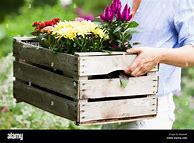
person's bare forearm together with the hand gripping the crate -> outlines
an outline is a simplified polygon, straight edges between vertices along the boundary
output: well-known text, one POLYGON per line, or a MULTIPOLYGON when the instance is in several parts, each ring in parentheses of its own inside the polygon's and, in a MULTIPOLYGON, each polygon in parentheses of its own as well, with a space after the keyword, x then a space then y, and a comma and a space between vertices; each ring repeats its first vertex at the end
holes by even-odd
POLYGON ((140 76, 147 73, 159 63, 174 65, 177 67, 194 66, 194 47, 186 45, 181 48, 132 48, 128 53, 138 54, 135 61, 125 72, 133 76, 140 76))

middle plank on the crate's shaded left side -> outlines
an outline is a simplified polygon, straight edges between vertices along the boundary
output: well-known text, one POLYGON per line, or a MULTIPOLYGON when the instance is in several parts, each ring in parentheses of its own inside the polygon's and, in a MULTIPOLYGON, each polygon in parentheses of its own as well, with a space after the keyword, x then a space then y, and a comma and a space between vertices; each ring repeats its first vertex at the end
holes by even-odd
POLYGON ((26 63, 14 62, 14 76, 26 82, 77 98, 77 84, 72 78, 38 68, 26 63))

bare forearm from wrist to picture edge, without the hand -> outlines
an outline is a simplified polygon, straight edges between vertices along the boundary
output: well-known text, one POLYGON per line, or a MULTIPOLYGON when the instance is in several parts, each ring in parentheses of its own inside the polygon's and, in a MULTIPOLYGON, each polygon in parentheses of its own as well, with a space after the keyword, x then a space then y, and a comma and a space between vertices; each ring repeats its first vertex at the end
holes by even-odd
POLYGON ((161 55, 160 63, 182 68, 194 66, 194 47, 191 45, 176 49, 161 49, 161 55))

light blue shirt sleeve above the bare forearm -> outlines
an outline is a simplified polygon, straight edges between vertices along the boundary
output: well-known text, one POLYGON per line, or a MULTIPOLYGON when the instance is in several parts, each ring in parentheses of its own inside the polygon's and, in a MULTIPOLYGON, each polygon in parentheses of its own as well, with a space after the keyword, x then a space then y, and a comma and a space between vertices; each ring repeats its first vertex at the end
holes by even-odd
POLYGON ((194 46, 194 0, 176 0, 174 25, 179 45, 194 46))

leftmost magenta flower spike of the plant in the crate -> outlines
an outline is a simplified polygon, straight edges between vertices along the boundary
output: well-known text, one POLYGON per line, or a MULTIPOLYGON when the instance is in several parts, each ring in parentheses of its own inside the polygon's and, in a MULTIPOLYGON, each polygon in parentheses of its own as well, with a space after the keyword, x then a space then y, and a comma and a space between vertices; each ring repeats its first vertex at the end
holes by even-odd
POLYGON ((100 15, 100 19, 104 22, 112 22, 114 19, 114 13, 111 9, 111 6, 107 6, 104 10, 104 13, 100 15))

